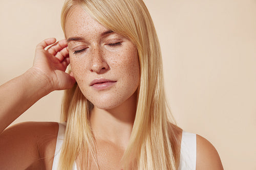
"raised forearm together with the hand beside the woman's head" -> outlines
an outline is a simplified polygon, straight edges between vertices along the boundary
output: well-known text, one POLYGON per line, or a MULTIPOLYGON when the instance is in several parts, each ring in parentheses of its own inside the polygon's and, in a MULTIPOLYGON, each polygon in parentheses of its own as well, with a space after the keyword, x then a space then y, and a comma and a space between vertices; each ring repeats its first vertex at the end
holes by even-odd
POLYGON ((65 40, 49 38, 36 47, 33 67, 0 86, 0 134, 36 101, 54 90, 71 88, 75 80, 65 72, 69 64, 65 40))

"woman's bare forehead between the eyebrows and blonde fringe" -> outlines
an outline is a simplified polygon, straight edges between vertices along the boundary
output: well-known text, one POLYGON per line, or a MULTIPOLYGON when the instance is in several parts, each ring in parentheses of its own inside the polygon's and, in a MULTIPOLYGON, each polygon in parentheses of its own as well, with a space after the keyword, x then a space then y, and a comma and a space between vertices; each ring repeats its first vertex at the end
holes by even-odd
POLYGON ((108 29, 94 20, 78 5, 71 9, 66 19, 65 33, 67 39, 74 36, 90 36, 106 30, 108 29))

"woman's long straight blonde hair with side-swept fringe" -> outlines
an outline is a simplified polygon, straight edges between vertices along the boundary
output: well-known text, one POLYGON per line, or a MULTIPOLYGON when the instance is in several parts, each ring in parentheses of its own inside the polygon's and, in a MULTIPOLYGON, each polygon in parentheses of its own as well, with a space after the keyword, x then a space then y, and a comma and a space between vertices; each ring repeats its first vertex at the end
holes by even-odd
MULTIPOLYGON (((160 45, 145 4, 142 0, 66 0, 61 13, 64 33, 68 14, 77 5, 104 27, 129 38, 137 47, 141 74, 138 104, 132 134, 122 158, 124 168, 131 165, 133 169, 178 169, 178 141, 175 126, 170 124, 174 119, 165 100, 160 45)), ((97 164, 89 116, 92 107, 77 84, 66 90, 61 120, 67 122, 67 127, 60 169, 72 169, 78 154, 82 154, 84 160, 79 167, 89 167, 89 157, 97 164)))

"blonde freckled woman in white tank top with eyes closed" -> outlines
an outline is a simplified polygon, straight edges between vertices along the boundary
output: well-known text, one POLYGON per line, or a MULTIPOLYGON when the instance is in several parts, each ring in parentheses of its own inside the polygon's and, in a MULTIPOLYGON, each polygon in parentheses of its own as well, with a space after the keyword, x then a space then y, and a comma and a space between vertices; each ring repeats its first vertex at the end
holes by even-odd
POLYGON ((33 67, 0 88, 1 169, 223 169, 206 139, 173 124, 156 31, 142 1, 68 0, 61 16, 66 40, 39 43, 33 67), (69 89, 61 115, 67 125, 6 129, 61 89, 69 89))

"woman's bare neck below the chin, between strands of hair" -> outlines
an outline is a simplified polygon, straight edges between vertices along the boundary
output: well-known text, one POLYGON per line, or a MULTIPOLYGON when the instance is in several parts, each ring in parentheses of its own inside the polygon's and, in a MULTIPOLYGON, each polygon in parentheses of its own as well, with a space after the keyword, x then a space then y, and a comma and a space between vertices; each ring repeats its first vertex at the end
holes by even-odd
POLYGON ((118 107, 108 110, 94 107, 90 114, 90 123, 96 140, 112 142, 126 148, 132 133, 136 108, 136 93, 118 107))

